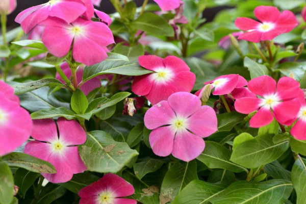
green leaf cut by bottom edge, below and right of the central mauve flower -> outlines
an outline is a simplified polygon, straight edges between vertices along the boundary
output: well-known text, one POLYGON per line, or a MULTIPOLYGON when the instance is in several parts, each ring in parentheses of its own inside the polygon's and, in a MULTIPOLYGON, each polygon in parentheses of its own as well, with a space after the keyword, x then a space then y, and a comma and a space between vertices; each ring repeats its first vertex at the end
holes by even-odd
POLYGON ((210 204, 209 199, 225 189, 222 184, 211 184, 200 180, 190 182, 177 195, 172 204, 210 204))

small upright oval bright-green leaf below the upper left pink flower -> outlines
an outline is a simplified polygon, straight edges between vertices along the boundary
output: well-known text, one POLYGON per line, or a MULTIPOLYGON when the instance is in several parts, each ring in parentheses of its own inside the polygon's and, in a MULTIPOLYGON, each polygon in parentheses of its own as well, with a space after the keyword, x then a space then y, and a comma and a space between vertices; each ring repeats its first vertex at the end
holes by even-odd
POLYGON ((71 96, 71 108, 77 114, 85 113, 88 108, 86 95, 80 89, 75 90, 71 96))

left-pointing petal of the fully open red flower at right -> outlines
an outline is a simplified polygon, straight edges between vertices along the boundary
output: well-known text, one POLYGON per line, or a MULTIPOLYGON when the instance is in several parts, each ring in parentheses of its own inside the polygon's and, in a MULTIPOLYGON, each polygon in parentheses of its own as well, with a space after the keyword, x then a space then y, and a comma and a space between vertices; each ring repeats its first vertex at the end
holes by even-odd
POLYGON ((257 97, 238 98, 234 104, 235 110, 239 113, 249 114, 260 108, 261 101, 262 99, 257 97))

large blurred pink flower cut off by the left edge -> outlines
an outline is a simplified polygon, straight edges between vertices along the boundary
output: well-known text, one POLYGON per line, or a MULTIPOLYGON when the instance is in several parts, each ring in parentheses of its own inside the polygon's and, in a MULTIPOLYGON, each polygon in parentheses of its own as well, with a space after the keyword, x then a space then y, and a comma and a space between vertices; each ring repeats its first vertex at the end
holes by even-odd
POLYGON ((4 156, 30 138, 32 119, 20 107, 14 89, 3 81, 0 81, 0 98, 0 156, 4 156))

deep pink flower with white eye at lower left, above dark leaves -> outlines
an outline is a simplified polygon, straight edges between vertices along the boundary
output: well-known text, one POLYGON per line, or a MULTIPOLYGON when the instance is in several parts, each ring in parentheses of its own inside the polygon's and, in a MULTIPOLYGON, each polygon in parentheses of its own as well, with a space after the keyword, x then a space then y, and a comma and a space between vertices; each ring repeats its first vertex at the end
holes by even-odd
POLYGON ((25 145, 24 153, 55 167, 54 174, 42 173, 49 182, 65 183, 86 170, 77 146, 86 141, 86 134, 77 121, 59 118, 56 125, 53 119, 33 120, 31 136, 35 141, 25 145))

